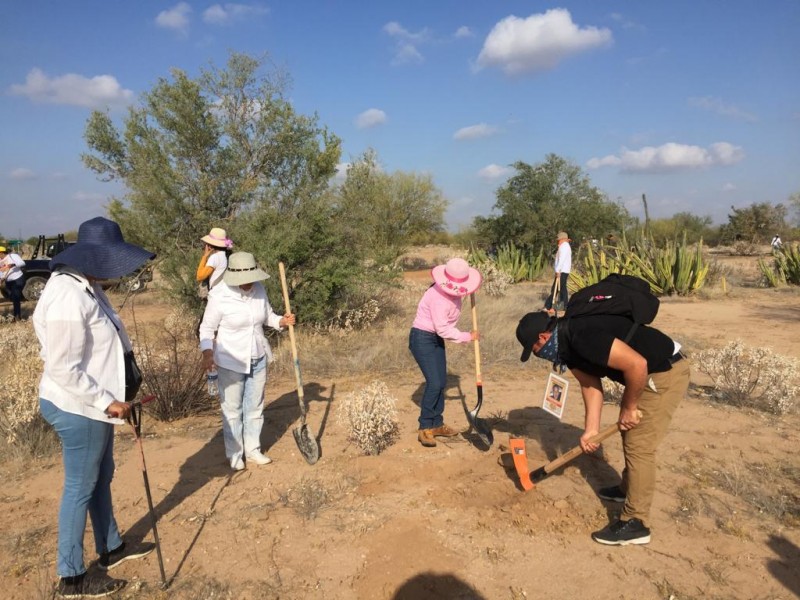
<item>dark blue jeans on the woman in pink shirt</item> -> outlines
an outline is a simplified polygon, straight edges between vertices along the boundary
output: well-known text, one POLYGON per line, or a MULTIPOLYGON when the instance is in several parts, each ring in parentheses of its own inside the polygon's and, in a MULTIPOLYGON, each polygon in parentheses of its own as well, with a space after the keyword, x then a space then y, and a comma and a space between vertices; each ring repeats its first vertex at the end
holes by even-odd
POLYGON ((444 389, 447 387, 447 356, 444 340, 429 331, 411 328, 408 349, 425 377, 420 402, 419 428, 433 429, 444 424, 444 389))

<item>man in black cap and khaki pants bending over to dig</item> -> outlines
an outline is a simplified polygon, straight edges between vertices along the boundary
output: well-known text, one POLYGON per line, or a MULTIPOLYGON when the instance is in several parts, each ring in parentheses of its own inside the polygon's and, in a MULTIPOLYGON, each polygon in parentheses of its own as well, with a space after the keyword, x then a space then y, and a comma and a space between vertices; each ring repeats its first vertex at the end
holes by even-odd
POLYGON ((609 545, 647 544, 656 448, 689 387, 689 365, 682 360, 680 344, 654 327, 634 327, 621 315, 556 319, 546 312, 522 317, 517 340, 523 348, 522 362, 533 353, 554 365, 566 365, 578 380, 586 408, 580 445, 586 453, 599 447, 589 440, 600 430, 600 379, 608 377, 625 386, 618 420, 625 454, 622 482, 598 493, 604 500, 625 505, 619 520, 592 533, 592 539, 609 545))

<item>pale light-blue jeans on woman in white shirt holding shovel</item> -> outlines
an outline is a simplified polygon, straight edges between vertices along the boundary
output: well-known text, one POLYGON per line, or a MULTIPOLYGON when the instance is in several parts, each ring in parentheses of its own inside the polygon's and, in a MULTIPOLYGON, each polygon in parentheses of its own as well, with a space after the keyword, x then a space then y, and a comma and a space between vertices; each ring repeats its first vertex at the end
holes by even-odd
POLYGON ((261 451, 267 357, 251 360, 249 373, 237 373, 220 366, 217 371, 225 455, 234 465, 242 456, 261 451))

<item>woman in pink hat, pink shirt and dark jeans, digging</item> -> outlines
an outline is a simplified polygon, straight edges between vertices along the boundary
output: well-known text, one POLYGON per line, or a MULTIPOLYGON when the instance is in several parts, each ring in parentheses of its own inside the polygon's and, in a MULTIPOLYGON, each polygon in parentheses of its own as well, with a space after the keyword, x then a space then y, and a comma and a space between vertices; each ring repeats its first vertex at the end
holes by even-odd
POLYGON ((461 302, 481 285, 481 274, 463 258, 431 270, 431 285, 417 306, 417 316, 408 336, 408 348, 425 377, 419 415, 420 444, 436 446, 437 437, 452 437, 458 431, 444 424, 444 390, 447 386, 447 356, 444 342, 466 344, 478 338, 477 331, 459 331, 461 302))

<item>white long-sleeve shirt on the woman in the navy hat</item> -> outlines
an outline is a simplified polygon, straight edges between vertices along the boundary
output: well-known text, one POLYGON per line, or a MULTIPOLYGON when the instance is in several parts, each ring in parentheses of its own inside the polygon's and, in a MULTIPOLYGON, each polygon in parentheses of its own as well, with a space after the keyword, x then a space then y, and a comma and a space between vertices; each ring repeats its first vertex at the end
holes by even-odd
POLYGON ((33 327, 44 360, 39 396, 63 411, 123 424, 105 409, 114 400, 125 401, 124 353, 131 346, 100 286, 62 267, 36 304, 33 327))

